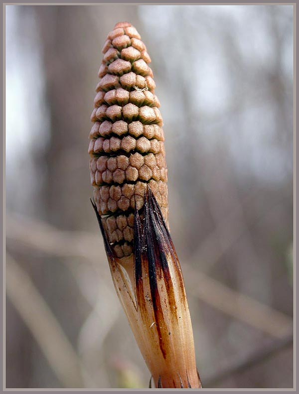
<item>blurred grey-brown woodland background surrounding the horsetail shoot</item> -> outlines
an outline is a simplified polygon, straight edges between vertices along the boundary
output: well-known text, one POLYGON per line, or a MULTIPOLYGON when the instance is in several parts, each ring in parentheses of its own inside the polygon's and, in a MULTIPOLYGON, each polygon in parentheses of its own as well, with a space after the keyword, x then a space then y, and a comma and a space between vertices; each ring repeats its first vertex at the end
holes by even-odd
POLYGON ((164 120, 205 388, 293 387, 293 6, 6 5, 6 387, 147 388, 89 198, 101 49, 130 21, 164 120))

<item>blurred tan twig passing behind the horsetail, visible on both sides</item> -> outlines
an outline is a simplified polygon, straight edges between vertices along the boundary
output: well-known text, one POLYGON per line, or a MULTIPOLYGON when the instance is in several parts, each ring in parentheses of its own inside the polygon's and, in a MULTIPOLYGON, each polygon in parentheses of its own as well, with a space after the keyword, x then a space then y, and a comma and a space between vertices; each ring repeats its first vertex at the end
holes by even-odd
MULTIPOLYGON (((93 234, 62 232, 42 222, 7 215, 6 236, 10 241, 56 256, 82 256, 98 262, 95 245, 100 241, 99 236, 93 234)), ((218 310, 274 337, 281 338, 290 332, 292 319, 270 306, 234 291, 204 273, 194 274, 188 264, 184 266, 184 276, 188 277, 188 287, 193 288, 193 294, 218 310)))

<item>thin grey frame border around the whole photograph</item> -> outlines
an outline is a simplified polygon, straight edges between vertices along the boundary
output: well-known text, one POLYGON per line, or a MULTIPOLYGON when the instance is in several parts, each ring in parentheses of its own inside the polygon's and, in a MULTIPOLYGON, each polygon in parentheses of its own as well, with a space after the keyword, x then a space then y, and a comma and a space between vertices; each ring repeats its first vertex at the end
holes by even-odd
MULTIPOLYGON (((293 389, 200 389, 200 391, 208 391, 211 393, 216 393, 219 391, 226 391, 226 392, 234 392, 234 393, 258 393, 258 392, 297 392, 297 360, 298 360, 298 344, 297 344, 297 336, 296 336, 296 328, 298 327, 298 306, 296 302, 296 295, 297 295, 297 287, 296 284, 298 283, 298 271, 297 271, 297 246, 298 246, 298 234, 297 234, 297 224, 298 224, 298 215, 297 215, 297 196, 299 195, 298 188, 299 188, 299 171, 297 171, 297 151, 299 141, 297 141, 296 136, 296 120, 297 120, 297 111, 298 103, 297 103, 297 94, 298 94, 298 86, 297 86, 297 21, 298 21, 298 7, 297 7, 297 0, 293 2, 276 2, 271 0, 264 0, 264 1, 215 1, 215 2, 207 2, 207 1, 188 1, 188 2, 181 2, 181 1, 125 1, 125 0, 107 0, 107 1, 89 1, 89 2, 74 2, 71 0, 64 0, 63 2, 60 1, 30 1, 30 2, 23 2, 23 1, 1 1, 0 7, 0 20, 2 20, 2 40, 1 40, 1 56, 2 56, 2 79, 1 79, 1 91, 3 94, 1 95, 1 105, 0 105, 0 119, 2 119, 2 160, 1 160, 1 191, 0 191, 0 201, 1 201, 1 210, 0 210, 0 218, 1 218, 1 229, 0 232, 1 237, 1 247, 2 247, 2 261, 3 264, 1 265, 1 273, 2 273, 2 281, 1 283, 1 291, 2 291, 2 300, 0 302, 0 319, 1 319, 1 333, 2 333, 2 341, 0 341, 0 351, 2 357, 0 357, 0 391, 1 392, 10 392, 12 393, 19 393, 19 392, 34 392, 34 393, 43 393, 43 392, 55 392, 55 393, 64 393, 64 392, 111 392, 111 391, 124 391, 124 392, 144 392, 144 391, 157 391, 160 389, 6 389, 5 388, 5 6, 6 5, 101 5, 107 3, 114 3, 114 4, 127 4, 127 5, 171 5, 171 4, 181 4, 181 5, 293 5, 294 7, 294 191, 293 191, 293 198, 294 198, 294 376, 293 382, 294 386, 293 389)), ((280 371, 277 371, 279 374, 280 371)), ((167 392, 175 392, 172 389, 163 389, 167 392)), ((179 389, 182 390, 182 389, 179 389)), ((190 389, 189 389, 190 390, 190 389)), ((186 391, 186 390, 183 390, 186 391)), ((191 391, 199 391, 198 389, 191 389, 191 391)))

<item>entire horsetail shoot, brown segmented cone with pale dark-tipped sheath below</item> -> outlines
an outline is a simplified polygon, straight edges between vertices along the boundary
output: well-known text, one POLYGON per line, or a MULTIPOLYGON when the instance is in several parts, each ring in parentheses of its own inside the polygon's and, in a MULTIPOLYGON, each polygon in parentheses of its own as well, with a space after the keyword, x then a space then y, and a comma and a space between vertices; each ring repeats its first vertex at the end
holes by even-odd
POLYGON ((90 132, 92 202, 117 294, 157 388, 201 388, 189 308, 167 227, 162 118, 137 30, 103 48, 90 132))

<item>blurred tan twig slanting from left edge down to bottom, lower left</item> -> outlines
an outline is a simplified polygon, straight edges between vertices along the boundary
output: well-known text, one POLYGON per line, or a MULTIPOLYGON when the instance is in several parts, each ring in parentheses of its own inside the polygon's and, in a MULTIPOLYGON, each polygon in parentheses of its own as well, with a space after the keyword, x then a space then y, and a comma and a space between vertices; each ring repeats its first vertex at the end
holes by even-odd
POLYGON ((86 371, 76 351, 28 274, 9 255, 6 292, 63 387, 83 387, 86 371))

